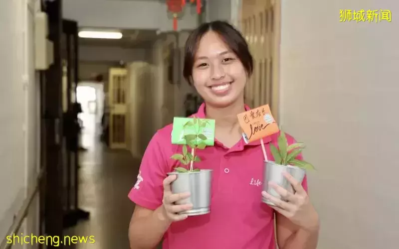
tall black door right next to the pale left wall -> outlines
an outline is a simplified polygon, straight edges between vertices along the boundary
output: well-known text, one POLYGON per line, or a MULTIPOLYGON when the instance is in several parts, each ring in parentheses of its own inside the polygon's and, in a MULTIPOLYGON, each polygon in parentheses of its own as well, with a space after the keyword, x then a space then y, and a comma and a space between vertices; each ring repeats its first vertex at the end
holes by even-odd
MULTIPOLYGON (((63 234, 62 210, 62 1, 42 1, 48 15, 48 39, 53 42, 53 64, 41 74, 41 162, 45 167, 40 186, 40 233, 48 236, 63 234)), ((40 245, 41 247, 42 245, 40 245)), ((47 245, 46 248, 57 248, 47 245)), ((59 248, 63 248, 62 246, 59 248)))

